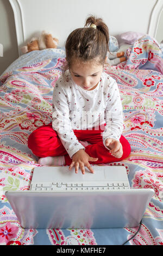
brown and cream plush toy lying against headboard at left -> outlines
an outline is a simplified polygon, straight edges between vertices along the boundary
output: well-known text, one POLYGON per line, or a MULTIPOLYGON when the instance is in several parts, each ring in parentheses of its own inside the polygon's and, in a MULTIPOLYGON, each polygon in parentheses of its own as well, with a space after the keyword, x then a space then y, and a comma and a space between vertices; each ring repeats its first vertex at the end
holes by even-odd
POLYGON ((39 38, 32 38, 31 41, 21 48, 22 53, 28 53, 46 48, 57 48, 58 39, 53 38, 52 34, 43 31, 39 38))

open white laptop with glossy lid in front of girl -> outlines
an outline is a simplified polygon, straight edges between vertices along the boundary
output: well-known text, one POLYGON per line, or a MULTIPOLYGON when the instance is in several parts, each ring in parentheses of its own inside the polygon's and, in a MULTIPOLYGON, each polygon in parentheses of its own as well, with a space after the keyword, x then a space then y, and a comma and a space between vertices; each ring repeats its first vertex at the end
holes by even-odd
POLYGON ((130 188, 124 166, 34 168, 28 191, 7 191, 23 228, 74 229, 137 227, 153 196, 152 189, 130 188))

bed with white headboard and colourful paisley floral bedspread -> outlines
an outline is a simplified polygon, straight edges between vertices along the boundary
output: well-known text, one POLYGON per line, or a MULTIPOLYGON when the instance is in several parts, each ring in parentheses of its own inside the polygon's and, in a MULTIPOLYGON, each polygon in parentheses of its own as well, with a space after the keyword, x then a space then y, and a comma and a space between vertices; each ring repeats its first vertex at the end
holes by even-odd
POLYGON ((83 26, 83 17, 90 13, 103 17, 108 27, 112 24, 112 35, 143 33, 128 47, 126 62, 104 69, 120 89, 123 135, 131 145, 126 160, 108 165, 125 166, 131 187, 153 188, 155 192, 139 233, 127 245, 163 245, 163 51, 155 40, 163 2, 148 1, 145 12, 146 1, 136 1, 134 13, 139 11, 143 24, 139 19, 132 22, 129 0, 123 1, 123 6, 119 0, 102 0, 100 5, 99 1, 83 0, 87 8, 74 0, 44 2, 10 0, 20 57, 0 77, 0 245, 121 245, 138 229, 23 229, 5 197, 7 190, 29 190, 33 169, 40 165, 27 147, 28 136, 52 121, 52 94, 65 62, 66 36, 83 26), (72 8, 76 11, 70 17, 72 8), (112 22, 112 9, 116 9, 119 22, 112 22), (128 15, 120 19, 123 11, 128 15), (58 48, 21 55, 21 46, 42 28, 59 39, 58 48))

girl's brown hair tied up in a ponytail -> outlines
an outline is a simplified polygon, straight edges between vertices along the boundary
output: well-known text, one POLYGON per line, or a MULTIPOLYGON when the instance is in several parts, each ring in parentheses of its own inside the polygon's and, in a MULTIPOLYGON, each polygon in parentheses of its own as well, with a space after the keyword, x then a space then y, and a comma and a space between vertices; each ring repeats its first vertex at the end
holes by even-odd
POLYGON ((64 70, 71 67, 73 59, 86 62, 98 57, 98 63, 103 65, 109 51, 108 27, 102 19, 90 16, 84 28, 75 29, 68 36, 65 48, 67 63, 64 70), (92 24, 96 26, 90 27, 92 24))

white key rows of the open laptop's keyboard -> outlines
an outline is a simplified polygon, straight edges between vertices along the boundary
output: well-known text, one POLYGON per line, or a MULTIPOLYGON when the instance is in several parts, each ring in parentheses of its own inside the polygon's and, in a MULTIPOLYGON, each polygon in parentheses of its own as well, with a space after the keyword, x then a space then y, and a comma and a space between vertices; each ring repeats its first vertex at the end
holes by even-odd
POLYGON ((53 191, 53 192, 82 192, 82 191, 116 191, 128 190, 128 183, 123 182, 52 182, 52 183, 32 183, 30 191, 53 191))

